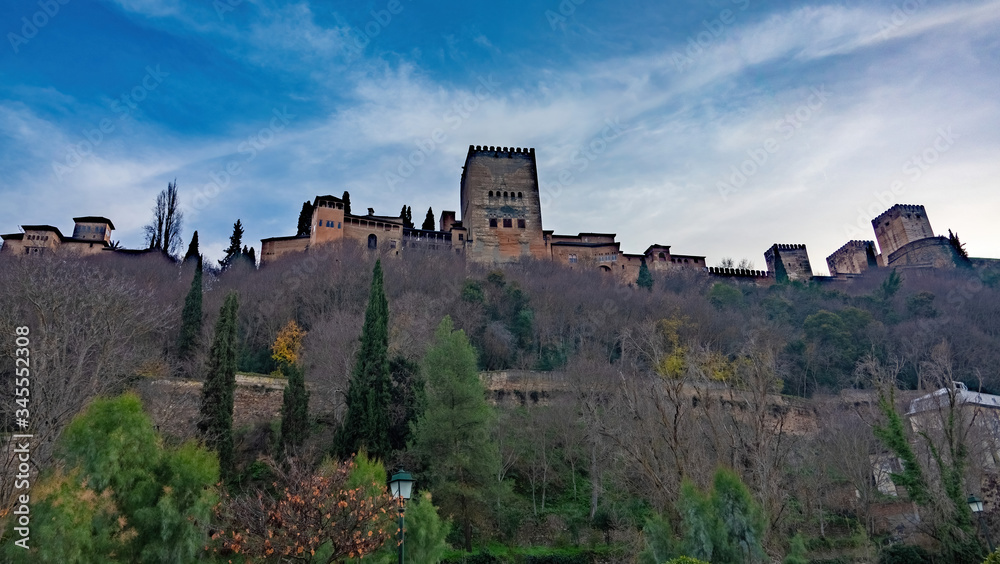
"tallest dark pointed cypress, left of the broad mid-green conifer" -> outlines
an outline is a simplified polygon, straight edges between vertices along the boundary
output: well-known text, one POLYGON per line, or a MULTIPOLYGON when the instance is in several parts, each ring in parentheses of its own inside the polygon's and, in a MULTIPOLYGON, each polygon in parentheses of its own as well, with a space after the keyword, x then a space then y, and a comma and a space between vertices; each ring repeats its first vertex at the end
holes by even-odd
POLYGON ((365 324, 361 329, 351 381, 347 388, 347 415, 334 437, 334 453, 347 459, 362 447, 385 460, 389 446, 389 302, 382 281, 382 261, 375 261, 365 324))

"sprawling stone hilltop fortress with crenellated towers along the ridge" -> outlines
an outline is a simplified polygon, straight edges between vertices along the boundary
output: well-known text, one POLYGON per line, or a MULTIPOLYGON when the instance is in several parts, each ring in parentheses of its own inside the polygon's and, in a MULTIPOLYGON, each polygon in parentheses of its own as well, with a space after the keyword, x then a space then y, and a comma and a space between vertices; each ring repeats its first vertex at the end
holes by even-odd
MULTIPOLYGON (((317 196, 309 233, 262 239, 261 265, 283 255, 344 241, 391 255, 418 249, 453 252, 482 264, 526 258, 551 260, 569 268, 600 270, 626 283, 636 281, 643 264, 653 273, 697 271, 767 285, 784 279, 848 279, 873 268, 954 268, 963 263, 992 262, 966 258, 948 237, 934 235, 923 206, 903 204, 872 220, 875 241, 849 241, 827 257, 830 277, 813 274, 802 244, 771 245, 764 252, 767 270, 709 267, 704 256, 676 254, 669 245, 661 244, 651 244, 641 254, 624 253, 614 233, 557 235, 542 227, 538 168, 535 150, 529 148, 470 145, 459 195, 461 216, 454 211, 441 212, 435 230, 410 228, 404 218, 375 215, 371 208, 366 215, 351 214, 341 198, 317 196)), ((74 221, 72 237, 51 225, 22 225, 21 233, 2 235, 0 252, 122 252, 111 244, 111 220, 86 216, 74 221)))

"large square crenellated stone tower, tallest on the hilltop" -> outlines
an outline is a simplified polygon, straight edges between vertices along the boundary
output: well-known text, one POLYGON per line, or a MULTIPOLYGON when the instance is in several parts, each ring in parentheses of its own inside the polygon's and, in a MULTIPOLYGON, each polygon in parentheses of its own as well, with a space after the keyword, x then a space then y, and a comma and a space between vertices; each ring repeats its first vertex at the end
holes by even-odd
POLYGON ((470 145, 461 206, 470 259, 547 258, 534 149, 470 145))

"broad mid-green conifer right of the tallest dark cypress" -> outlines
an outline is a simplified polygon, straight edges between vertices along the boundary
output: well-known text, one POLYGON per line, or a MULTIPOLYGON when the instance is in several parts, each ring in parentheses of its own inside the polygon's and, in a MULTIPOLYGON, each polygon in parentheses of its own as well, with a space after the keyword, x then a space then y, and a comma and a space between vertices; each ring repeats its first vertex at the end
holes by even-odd
POLYGON ((485 510, 483 494, 495 480, 498 452, 490 437, 493 411, 464 331, 445 317, 423 361, 426 407, 414 428, 413 452, 424 464, 445 515, 462 527, 472 549, 472 524, 485 510))

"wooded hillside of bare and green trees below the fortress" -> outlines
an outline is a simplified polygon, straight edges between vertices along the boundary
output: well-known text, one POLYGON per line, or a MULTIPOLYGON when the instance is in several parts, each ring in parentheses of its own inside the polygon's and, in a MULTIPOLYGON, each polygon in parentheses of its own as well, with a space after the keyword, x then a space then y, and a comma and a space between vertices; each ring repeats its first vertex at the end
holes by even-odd
MULTIPOLYGON (((896 548, 909 545, 880 515, 915 502, 920 518, 910 522, 919 524, 907 534, 923 533, 928 558, 981 561, 970 491, 987 500, 984 523, 998 531, 1000 488, 988 487, 983 463, 994 443, 981 416, 950 398, 929 411, 932 424, 907 415, 912 397, 952 381, 1000 391, 990 369, 1000 365, 1000 276, 978 263, 771 287, 664 272, 647 291, 551 263, 485 268, 423 251, 376 263, 373 254, 330 245, 259 270, 206 268, 197 285, 190 264, 159 253, 0 266, 0 332, 31 329, 32 459, 47 469, 33 483, 33 535, 43 532, 42 511, 51 530, 68 531, 48 561, 73 561, 67 551, 77 548, 92 561, 144 561, 122 547, 146 534, 146 517, 126 515, 132 502, 116 497, 141 492, 98 486, 59 438, 88 406, 130 388, 164 433, 144 439, 155 449, 121 458, 154 465, 144 483, 159 485, 149 492, 175 491, 161 487, 167 468, 196 448, 176 446, 195 434, 184 421, 202 424, 209 450, 199 456, 221 461, 221 485, 198 491, 222 503, 184 521, 194 529, 182 530, 160 498, 143 502, 163 509, 149 518, 181 537, 204 534, 203 525, 218 533, 176 561, 280 561, 299 548, 315 550, 315 561, 352 551, 393 561, 395 504, 378 506, 385 467, 417 478, 408 552, 427 523, 437 539, 429 560, 618 562, 648 549, 660 564, 682 555, 798 562, 804 546, 814 561, 888 561, 916 549, 896 548), (211 346, 205 332, 205 346, 183 358, 184 320, 193 319, 183 306, 196 286, 203 309, 220 315, 211 346), (280 417, 232 423, 237 370, 288 378, 283 396, 268 396, 280 417), (193 372, 205 380, 200 414, 197 401, 188 413, 157 395, 170 376, 193 372), (368 455, 352 459, 363 446, 368 455), (324 453, 335 456, 324 462, 324 453), (729 470, 720 477, 719 468, 729 470), (347 512, 338 524, 377 518, 362 529, 375 540, 357 544, 309 513, 332 500, 347 512), (424 519, 435 505, 437 520, 424 519), (272 555, 256 556, 273 513, 281 521, 272 529, 283 532, 271 537, 272 555), (339 536, 296 536, 310 527, 339 536), (451 547, 443 553, 442 536, 451 547)), ((13 340, 0 340, 0 356, 15 355, 13 340)), ((13 363, 0 364, 13 379, 13 363)), ((8 434, 12 405, 0 406, 8 434)), ((141 430, 123 421, 121 437, 141 430)), ((110 440, 99 428, 95 440, 110 440)), ((0 460, 4 476, 16 473, 10 464, 0 460)), ((15 493, 0 480, 3 550, 15 493)))

